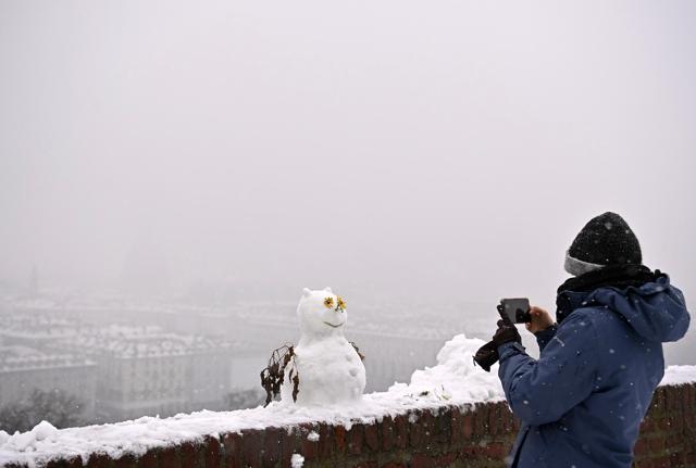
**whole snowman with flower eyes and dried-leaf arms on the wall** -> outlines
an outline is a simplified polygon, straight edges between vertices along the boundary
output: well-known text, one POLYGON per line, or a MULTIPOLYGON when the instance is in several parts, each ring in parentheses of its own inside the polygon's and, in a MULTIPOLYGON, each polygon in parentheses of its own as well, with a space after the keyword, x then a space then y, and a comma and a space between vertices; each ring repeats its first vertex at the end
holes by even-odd
POLYGON ((345 301, 331 288, 304 288, 297 306, 301 337, 297 346, 275 350, 261 382, 270 403, 331 405, 358 401, 365 388, 363 356, 344 337, 348 320, 345 301))

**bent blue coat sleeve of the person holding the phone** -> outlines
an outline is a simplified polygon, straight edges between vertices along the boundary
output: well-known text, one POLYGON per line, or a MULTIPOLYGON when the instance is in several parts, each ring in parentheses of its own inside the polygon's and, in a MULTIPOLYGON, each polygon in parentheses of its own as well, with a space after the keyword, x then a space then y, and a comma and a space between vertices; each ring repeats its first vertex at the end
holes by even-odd
POLYGON ((498 375, 512 413, 540 426, 557 421, 585 400, 597 379, 597 332, 582 309, 558 327, 539 359, 517 343, 498 349, 498 375))

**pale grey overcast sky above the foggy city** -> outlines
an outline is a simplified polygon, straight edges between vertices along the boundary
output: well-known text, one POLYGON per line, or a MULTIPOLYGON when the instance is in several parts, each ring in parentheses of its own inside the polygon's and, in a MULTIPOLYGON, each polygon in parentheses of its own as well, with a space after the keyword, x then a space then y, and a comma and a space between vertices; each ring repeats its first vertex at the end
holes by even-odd
POLYGON ((695 22, 693 1, 3 0, 0 280, 157 265, 173 289, 550 305, 616 211, 688 299, 695 22))

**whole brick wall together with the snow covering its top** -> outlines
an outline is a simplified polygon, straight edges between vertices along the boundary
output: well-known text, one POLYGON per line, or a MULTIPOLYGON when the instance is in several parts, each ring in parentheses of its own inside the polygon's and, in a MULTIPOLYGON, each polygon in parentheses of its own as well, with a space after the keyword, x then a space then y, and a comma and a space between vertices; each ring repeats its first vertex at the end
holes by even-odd
MULTIPOLYGON (((200 412, 115 425, 0 432, 2 467, 501 466, 518 422, 495 372, 471 364, 481 344, 449 341, 410 384, 359 404, 200 412)), ((696 366, 671 367, 636 445, 647 466, 696 466, 696 366)))

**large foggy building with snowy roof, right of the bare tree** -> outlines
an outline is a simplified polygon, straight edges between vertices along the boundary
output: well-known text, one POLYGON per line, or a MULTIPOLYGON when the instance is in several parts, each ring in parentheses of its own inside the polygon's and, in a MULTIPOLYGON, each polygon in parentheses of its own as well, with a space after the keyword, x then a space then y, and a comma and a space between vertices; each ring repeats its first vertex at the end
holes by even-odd
POLYGON ((63 343, 97 363, 103 421, 221 409, 229 389, 229 346, 159 327, 111 326, 63 343))

